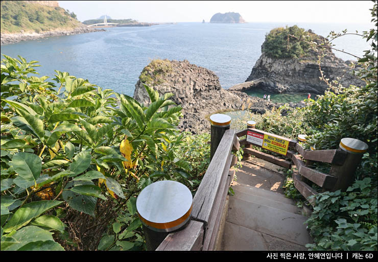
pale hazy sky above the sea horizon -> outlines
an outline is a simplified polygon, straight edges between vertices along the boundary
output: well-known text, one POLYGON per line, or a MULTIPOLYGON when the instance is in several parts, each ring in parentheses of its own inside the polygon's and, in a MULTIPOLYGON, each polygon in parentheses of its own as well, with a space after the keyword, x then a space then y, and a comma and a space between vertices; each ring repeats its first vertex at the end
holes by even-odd
POLYGON ((208 22, 237 12, 247 22, 371 23, 371 1, 58 1, 79 21, 106 14, 139 22, 208 22))

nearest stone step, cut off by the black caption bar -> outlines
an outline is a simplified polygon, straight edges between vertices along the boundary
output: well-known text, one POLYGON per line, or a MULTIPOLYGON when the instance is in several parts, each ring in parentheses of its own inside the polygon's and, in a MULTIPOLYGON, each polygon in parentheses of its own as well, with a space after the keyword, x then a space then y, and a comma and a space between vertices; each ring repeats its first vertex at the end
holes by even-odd
POLYGON ((225 251, 304 251, 304 246, 227 222, 221 250, 225 251), (235 241, 235 236, 237 241, 235 241))

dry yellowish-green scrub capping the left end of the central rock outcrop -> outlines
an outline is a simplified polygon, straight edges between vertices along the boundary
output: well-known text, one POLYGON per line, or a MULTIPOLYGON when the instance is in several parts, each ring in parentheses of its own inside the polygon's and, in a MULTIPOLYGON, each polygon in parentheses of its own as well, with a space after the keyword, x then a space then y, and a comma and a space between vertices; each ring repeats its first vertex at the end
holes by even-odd
POLYGON ((150 86, 164 82, 164 77, 172 72, 172 64, 168 59, 154 59, 140 73, 139 80, 150 86))

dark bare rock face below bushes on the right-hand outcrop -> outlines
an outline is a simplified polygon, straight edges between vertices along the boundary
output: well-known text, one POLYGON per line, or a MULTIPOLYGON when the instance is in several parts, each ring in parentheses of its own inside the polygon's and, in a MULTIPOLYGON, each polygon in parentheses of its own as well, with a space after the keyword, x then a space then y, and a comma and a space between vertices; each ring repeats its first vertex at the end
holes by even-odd
MULTIPOLYGON (((325 50, 325 54, 320 67, 324 77, 329 79, 329 83, 339 77, 339 83, 345 87, 364 85, 363 81, 351 74, 352 70, 348 66, 350 61, 337 58, 331 50, 325 50)), ((327 90, 328 86, 323 80, 319 79, 321 73, 317 62, 318 55, 311 50, 307 56, 300 59, 278 59, 271 58, 263 52, 246 80, 246 82, 255 81, 251 82, 249 86, 244 85, 233 89, 261 88, 270 93, 310 92, 321 94, 327 90)))

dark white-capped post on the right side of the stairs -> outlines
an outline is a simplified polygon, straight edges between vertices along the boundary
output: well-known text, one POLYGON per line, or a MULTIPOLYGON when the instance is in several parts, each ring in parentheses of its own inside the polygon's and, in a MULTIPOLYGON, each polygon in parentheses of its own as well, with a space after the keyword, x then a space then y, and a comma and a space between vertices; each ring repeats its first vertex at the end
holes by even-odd
POLYGON ((355 180, 355 172, 361 162, 362 155, 367 151, 368 145, 355 138, 343 138, 339 149, 348 153, 343 165, 333 164, 329 175, 338 177, 336 184, 330 190, 332 192, 341 189, 345 191, 355 180))

